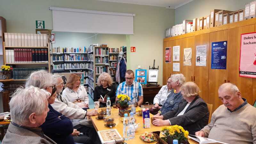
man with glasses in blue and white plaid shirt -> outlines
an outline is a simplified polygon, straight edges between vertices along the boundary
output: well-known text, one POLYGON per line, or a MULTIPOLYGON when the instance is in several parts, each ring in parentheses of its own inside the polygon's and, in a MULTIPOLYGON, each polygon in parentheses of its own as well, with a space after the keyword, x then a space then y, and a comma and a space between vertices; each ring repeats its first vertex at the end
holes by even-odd
POLYGON ((140 83, 134 81, 134 72, 132 70, 127 70, 125 72, 125 82, 118 85, 116 90, 116 100, 117 95, 126 94, 130 97, 131 101, 136 100, 138 106, 143 103, 143 90, 140 83))

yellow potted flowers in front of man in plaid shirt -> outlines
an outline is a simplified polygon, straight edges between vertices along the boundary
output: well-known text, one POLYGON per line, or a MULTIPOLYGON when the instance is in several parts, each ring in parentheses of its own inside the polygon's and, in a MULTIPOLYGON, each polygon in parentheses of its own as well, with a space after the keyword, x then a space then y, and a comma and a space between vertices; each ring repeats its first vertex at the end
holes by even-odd
POLYGON ((131 110, 128 110, 129 101, 130 101, 130 97, 128 95, 125 95, 125 94, 117 95, 116 107, 119 108, 118 114, 121 117, 124 117, 125 113, 127 113, 129 115, 129 113, 131 112, 131 110))

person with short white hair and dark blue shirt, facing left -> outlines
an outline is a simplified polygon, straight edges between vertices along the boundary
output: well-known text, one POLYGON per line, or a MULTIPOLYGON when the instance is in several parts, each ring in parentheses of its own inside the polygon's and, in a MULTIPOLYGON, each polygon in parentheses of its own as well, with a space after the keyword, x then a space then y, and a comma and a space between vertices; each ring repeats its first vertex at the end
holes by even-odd
POLYGON ((179 105, 180 101, 182 100, 180 87, 185 82, 186 82, 186 78, 184 77, 183 74, 173 74, 171 76, 171 85, 174 90, 167 96, 167 99, 164 102, 164 105, 155 116, 163 115, 166 112, 172 110, 173 108, 176 108, 179 105))

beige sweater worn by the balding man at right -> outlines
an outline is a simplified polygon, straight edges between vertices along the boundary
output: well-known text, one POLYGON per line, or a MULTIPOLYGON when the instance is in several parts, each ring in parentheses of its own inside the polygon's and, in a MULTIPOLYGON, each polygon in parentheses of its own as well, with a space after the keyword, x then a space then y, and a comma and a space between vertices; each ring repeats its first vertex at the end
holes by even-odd
POLYGON ((256 144, 256 108, 250 104, 230 112, 221 105, 206 125, 205 137, 229 144, 256 144))

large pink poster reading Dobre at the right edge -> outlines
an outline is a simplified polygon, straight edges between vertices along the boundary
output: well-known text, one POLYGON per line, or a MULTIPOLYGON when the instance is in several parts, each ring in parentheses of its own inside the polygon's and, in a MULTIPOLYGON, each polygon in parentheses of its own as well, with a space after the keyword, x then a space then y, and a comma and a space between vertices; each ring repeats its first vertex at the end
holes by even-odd
POLYGON ((256 33, 241 34, 239 76, 256 78, 256 33))

